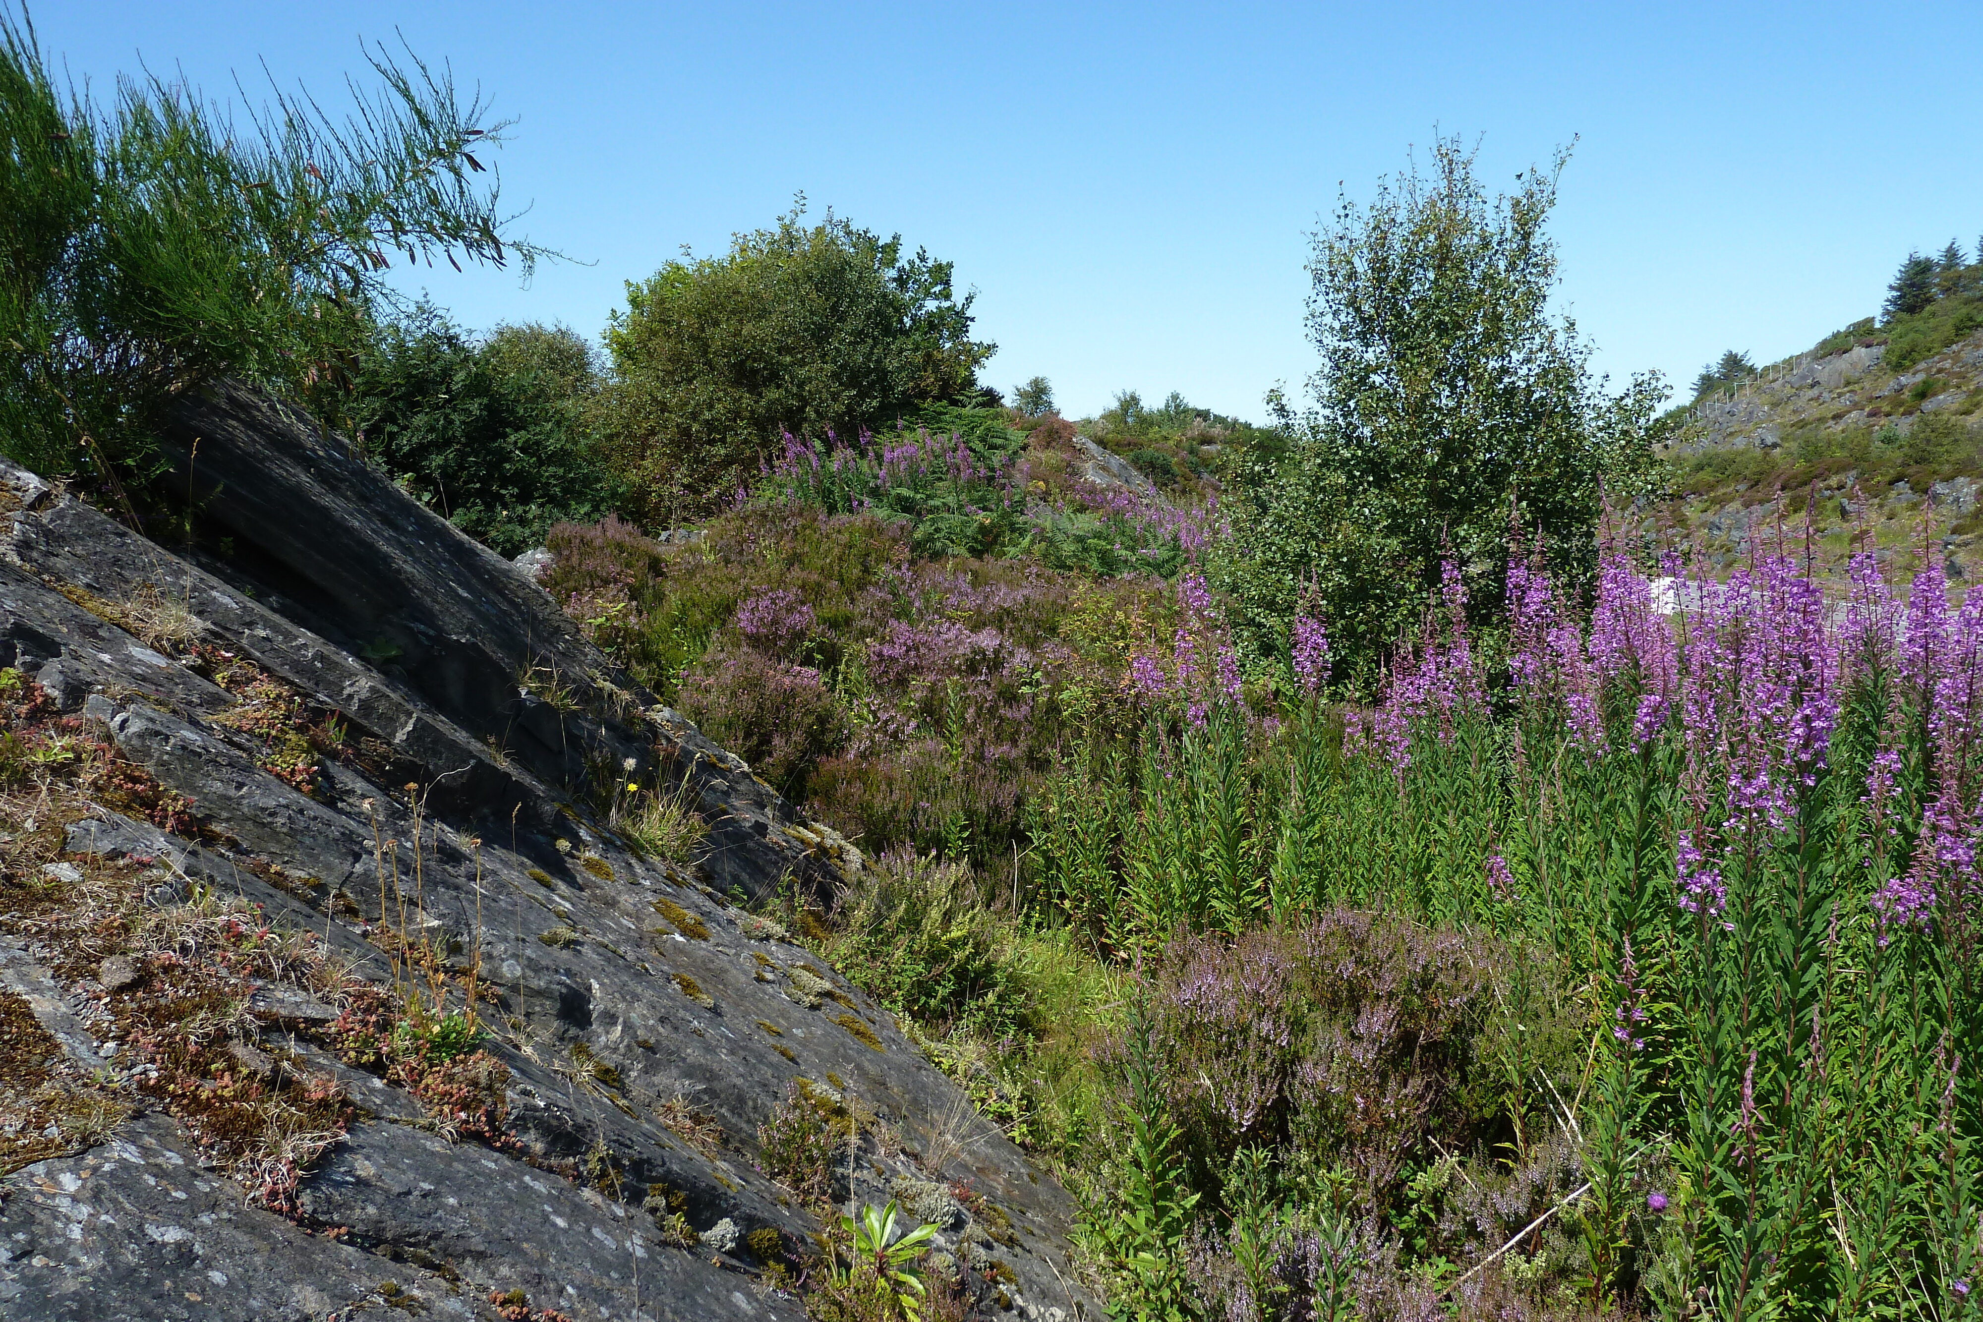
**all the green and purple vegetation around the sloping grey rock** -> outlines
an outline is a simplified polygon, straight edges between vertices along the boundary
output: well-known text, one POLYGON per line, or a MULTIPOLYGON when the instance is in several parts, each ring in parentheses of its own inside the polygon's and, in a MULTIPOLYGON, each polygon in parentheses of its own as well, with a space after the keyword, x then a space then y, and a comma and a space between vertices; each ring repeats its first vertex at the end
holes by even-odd
POLYGON ((1557 168, 1489 200, 1444 141, 1317 240, 1313 408, 1069 420, 978 385, 948 264, 799 210, 631 285, 603 361, 395 307, 385 238, 533 254, 424 75, 256 149, 184 89, 101 115, 8 59, 14 454, 119 501, 147 408, 248 375, 490 545, 541 535, 595 642, 869 854, 779 918, 1059 1163, 1120 1316, 1975 1314, 1983 614, 1922 553, 1959 547, 1854 523, 1983 476, 1935 375, 1959 252, 1834 345, 1886 355, 1850 400, 1697 446, 1807 386, 1731 353, 1690 414, 1608 396, 1545 309, 1557 168), (331 230, 282 248, 305 202, 331 230), (184 214, 230 238, 147 266, 184 214), (200 321, 254 272, 270 307, 200 321), (1767 521, 1662 545, 1757 488, 1767 521), (1761 535, 1799 515, 1803 563, 1761 535))

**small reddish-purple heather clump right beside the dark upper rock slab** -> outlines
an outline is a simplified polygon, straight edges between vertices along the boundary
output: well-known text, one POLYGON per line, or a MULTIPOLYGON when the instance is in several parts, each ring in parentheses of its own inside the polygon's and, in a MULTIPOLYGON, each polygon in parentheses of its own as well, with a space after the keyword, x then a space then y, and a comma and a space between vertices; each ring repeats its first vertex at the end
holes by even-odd
POLYGON ((680 694, 682 712, 789 799, 849 737, 847 712, 809 666, 718 644, 680 694))

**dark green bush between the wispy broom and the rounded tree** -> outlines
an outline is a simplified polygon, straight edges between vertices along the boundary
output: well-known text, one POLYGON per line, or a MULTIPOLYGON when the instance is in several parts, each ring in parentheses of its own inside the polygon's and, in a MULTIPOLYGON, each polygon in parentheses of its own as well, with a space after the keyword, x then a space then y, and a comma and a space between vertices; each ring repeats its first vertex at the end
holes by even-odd
POLYGON ((615 505, 591 432, 593 349, 565 327, 506 325, 476 343, 432 307, 361 355, 351 414, 371 458, 502 555, 615 505))

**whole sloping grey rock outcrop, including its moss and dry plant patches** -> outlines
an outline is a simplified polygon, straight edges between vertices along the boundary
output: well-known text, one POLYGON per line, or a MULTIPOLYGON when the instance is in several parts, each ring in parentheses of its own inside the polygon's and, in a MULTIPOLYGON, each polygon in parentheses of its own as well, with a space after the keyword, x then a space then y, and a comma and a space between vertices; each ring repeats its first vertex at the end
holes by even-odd
POLYGON ((337 436, 175 436, 186 545, 0 468, 0 1316, 799 1318, 849 1195, 954 1316, 1093 1312, 1067 1193, 744 908, 845 840, 337 436))

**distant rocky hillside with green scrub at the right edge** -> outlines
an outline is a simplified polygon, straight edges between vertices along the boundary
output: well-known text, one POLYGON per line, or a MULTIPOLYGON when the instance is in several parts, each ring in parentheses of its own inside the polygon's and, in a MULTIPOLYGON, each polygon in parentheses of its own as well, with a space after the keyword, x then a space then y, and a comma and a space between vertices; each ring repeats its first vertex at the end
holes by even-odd
POLYGON ((1816 494, 1820 573, 1842 573, 1872 537, 1896 571, 1931 551, 1951 577, 1983 581, 1983 266, 1955 268, 1925 303, 1916 293, 1914 311, 1894 297, 1884 323, 1866 317, 1761 369, 1729 353, 1701 373, 1666 450, 1676 499, 1656 517, 1670 537, 1729 569, 1779 521, 1803 545, 1816 494))

